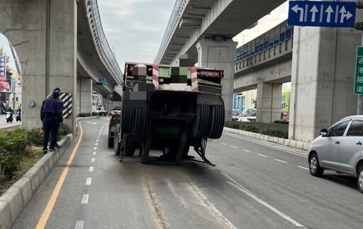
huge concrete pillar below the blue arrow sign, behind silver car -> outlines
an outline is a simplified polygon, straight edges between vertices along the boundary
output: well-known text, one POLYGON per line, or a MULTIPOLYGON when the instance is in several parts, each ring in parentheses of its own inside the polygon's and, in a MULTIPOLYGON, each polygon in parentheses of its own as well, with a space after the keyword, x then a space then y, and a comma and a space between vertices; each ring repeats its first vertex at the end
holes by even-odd
POLYGON ((321 128, 356 114, 354 66, 361 37, 349 28, 296 27, 289 139, 311 142, 321 128))

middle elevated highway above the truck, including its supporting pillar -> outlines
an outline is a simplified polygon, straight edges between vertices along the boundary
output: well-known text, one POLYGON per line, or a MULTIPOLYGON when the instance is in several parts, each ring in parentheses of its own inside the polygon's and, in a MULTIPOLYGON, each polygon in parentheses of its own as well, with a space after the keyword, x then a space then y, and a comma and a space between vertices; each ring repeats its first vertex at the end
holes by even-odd
POLYGON ((260 18, 283 3, 284 0, 177 0, 155 63, 179 64, 181 54, 188 54, 201 67, 223 68, 225 118, 230 120, 237 47, 232 38, 254 27, 260 18))

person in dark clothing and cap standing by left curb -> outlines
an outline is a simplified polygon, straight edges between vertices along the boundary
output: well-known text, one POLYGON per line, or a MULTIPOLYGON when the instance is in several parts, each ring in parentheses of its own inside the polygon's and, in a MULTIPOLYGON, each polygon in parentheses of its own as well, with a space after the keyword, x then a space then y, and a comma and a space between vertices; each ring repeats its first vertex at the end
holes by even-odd
POLYGON ((59 100, 60 91, 54 90, 52 97, 43 101, 40 109, 40 119, 43 122, 43 153, 48 153, 48 141, 50 138, 49 151, 55 151, 57 141, 57 127, 63 122, 62 102, 59 100))

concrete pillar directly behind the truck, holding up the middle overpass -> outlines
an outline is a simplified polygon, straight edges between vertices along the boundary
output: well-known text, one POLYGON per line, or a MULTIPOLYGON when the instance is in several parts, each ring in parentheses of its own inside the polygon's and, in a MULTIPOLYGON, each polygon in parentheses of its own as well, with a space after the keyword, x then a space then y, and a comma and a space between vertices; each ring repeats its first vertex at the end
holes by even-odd
POLYGON ((238 42, 233 40, 201 40, 196 44, 199 66, 224 70, 222 98, 227 121, 232 120, 233 77, 237 45, 238 42))

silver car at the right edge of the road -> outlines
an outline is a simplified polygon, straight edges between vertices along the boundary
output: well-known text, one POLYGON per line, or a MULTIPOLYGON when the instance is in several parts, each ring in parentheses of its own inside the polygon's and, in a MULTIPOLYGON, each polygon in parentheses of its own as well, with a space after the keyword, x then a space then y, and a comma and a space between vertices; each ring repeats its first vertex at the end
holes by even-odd
POLYGON ((320 134, 308 150, 311 175, 320 177, 324 170, 334 170, 357 177, 363 193, 363 115, 340 119, 320 134))

